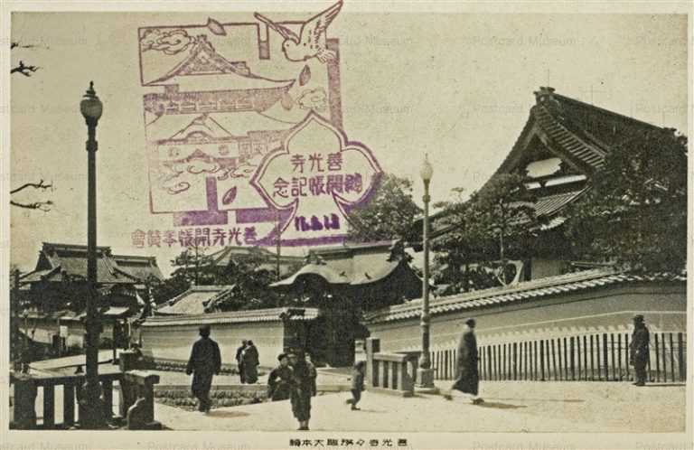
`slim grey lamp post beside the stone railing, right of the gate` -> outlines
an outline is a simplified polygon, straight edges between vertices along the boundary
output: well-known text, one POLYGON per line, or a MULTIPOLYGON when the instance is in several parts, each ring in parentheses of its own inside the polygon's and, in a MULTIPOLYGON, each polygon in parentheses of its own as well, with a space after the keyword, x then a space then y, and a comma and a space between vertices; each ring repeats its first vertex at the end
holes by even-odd
POLYGON ((427 155, 419 172, 424 182, 424 233, 422 236, 424 244, 424 282, 422 283, 422 357, 419 360, 417 370, 417 387, 419 389, 436 389, 434 386, 434 370, 431 368, 431 357, 429 355, 429 327, 431 317, 429 316, 429 183, 434 175, 434 169, 429 164, 427 155))

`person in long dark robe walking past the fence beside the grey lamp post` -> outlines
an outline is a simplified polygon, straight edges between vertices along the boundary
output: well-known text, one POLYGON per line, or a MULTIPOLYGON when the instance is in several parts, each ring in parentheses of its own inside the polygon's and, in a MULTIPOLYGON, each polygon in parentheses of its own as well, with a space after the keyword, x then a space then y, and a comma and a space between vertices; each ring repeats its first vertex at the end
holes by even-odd
POLYGON ((455 391, 462 392, 465 397, 469 398, 474 405, 483 403, 483 399, 478 397, 480 389, 480 374, 477 370, 477 338, 474 335, 474 327, 476 323, 474 319, 465 321, 465 329, 458 343, 458 367, 455 375, 455 382, 451 387, 446 399, 453 399, 455 391))

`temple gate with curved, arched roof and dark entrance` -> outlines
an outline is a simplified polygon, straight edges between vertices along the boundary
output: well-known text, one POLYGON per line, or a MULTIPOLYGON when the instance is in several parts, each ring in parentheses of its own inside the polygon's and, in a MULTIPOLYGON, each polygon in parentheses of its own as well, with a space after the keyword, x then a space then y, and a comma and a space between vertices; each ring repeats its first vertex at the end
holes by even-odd
POLYGON ((416 298, 422 280, 402 244, 389 240, 314 248, 304 267, 271 287, 320 309, 320 325, 308 330, 306 348, 332 366, 347 366, 354 343, 368 335, 362 314, 416 298))

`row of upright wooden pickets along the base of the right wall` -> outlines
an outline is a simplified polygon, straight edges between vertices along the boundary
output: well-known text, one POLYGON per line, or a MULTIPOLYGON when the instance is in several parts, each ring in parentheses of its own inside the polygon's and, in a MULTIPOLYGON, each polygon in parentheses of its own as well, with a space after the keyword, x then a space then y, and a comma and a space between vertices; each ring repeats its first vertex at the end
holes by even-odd
MULTIPOLYGON (((633 380, 628 333, 598 333, 479 347, 484 381, 627 381, 633 380)), ((687 380, 685 333, 651 333, 648 379, 687 380)), ((437 380, 453 380, 455 349, 432 352, 437 380)))

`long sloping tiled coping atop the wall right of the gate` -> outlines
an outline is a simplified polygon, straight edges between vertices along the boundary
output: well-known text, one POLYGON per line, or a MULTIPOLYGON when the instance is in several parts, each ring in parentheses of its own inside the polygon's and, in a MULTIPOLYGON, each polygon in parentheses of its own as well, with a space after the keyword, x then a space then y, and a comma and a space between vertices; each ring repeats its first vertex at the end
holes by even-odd
MULTIPOLYGON (((602 286, 644 281, 684 282, 686 277, 661 274, 637 275, 610 269, 586 270, 558 277, 539 278, 516 286, 492 287, 459 295, 439 297, 431 301, 429 313, 432 315, 448 314, 462 310, 481 309, 487 306, 511 304, 550 295, 562 295, 602 286)), ((367 314, 365 322, 385 323, 413 319, 419 317, 421 307, 421 299, 403 305, 390 306, 367 314)))

